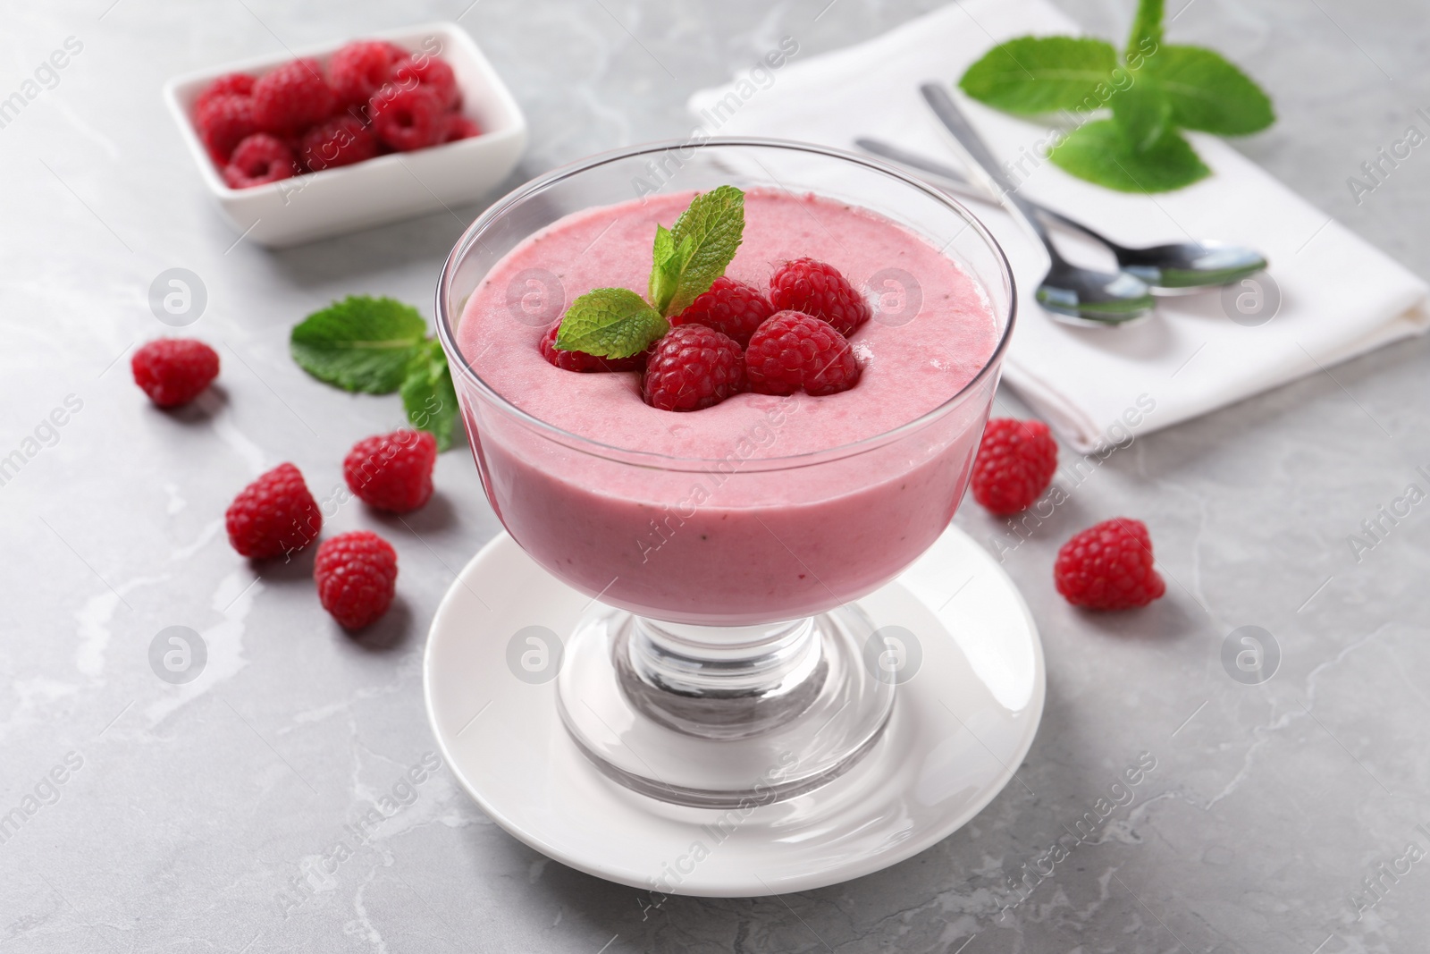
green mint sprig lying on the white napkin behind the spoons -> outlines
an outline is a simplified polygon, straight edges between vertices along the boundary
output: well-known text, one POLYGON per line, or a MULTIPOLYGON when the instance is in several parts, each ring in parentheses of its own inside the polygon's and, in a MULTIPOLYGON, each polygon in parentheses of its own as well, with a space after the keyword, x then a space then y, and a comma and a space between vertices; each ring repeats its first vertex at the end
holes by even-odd
POLYGON ((958 87, 1018 116, 1071 114, 1075 126, 1048 157, 1080 179, 1120 192, 1181 189, 1211 170, 1178 130, 1246 136, 1276 113, 1218 53, 1163 43, 1163 0, 1141 0, 1121 53, 1088 37, 1008 40, 970 66, 958 87))

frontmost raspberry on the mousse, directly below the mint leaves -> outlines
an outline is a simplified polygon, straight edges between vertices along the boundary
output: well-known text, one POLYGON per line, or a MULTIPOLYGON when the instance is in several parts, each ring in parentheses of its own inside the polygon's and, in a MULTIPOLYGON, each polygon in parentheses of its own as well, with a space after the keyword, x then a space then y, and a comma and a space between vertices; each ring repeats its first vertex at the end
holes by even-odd
POLYGON ((661 410, 699 410, 745 389, 739 345, 704 325, 681 325, 651 349, 641 390, 661 410))

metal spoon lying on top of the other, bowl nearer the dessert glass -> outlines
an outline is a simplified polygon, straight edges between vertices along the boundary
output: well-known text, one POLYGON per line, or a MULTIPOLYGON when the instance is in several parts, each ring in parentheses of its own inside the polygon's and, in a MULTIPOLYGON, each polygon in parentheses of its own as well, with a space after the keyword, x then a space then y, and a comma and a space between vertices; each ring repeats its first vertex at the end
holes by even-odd
POLYGON ((1038 285, 1035 293, 1038 305, 1054 319, 1081 328, 1128 325, 1151 315, 1153 293, 1140 277, 1127 272, 1085 269, 1064 259, 1052 245, 1042 220, 1038 219, 1038 210, 1017 193, 1002 166, 968 124, 954 99, 937 83, 924 83, 918 89, 938 120, 952 133, 954 142, 967 153, 968 172, 975 179, 985 180, 978 185, 984 186, 988 195, 995 195, 1012 206, 1048 250, 1051 267, 1038 285))

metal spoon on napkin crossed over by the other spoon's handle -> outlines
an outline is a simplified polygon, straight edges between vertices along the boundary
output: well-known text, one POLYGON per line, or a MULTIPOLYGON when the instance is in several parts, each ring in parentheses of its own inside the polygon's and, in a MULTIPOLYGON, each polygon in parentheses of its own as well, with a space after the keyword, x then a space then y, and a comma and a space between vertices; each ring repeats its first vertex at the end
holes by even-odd
MULTIPOLYGON (((855 139, 854 144, 867 153, 888 159, 927 176, 934 176, 938 180, 935 185, 965 199, 992 202, 991 197, 968 182, 962 173, 937 159, 899 149, 881 139, 861 137, 855 139)), ((1154 245, 1140 249, 1128 247, 1113 242, 1061 212, 1035 202, 1030 202, 1028 205, 1037 209, 1044 220, 1075 229, 1090 239, 1105 245, 1117 257, 1118 267, 1147 282, 1153 287, 1154 295, 1188 295, 1207 287, 1236 285, 1244 277, 1266 270, 1267 266, 1266 256, 1256 249, 1244 245, 1216 242, 1213 239, 1174 242, 1171 245, 1154 245)))

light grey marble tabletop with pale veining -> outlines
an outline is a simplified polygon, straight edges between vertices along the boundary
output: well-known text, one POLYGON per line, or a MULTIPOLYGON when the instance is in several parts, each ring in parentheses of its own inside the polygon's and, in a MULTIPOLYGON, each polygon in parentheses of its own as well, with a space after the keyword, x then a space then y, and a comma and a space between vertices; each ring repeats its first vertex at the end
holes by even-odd
MULTIPOLYGON (((1346 179, 1423 120, 1421 4, 1174 0, 1173 37, 1214 44, 1274 93, 1240 144, 1293 189, 1430 276, 1430 159, 1357 202, 1346 179)), ((921 0, 86 0, 9 3, 0 97, 67 37, 82 51, 0 127, 0 948, 14 951, 1419 951, 1430 935, 1427 346, 1387 348, 1114 453, 1005 566, 1042 628, 1048 702, 1010 785, 974 822, 884 872, 758 900, 671 898, 578 874, 486 818, 422 707, 426 622, 498 523, 465 451, 409 519, 337 508, 402 561, 400 602, 360 641, 317 606, 305 562, 263 568, 222 513, 260 466, 320 498, 390 398, 315 385, 287 330, 350 292, 429 308, 478 209, 270 253, 209 205, 159 100, 170 74, 339 36, 458 19, 532 122, 511 183, 622 143, 682 134, 686 94, 779 36, 802 54, 874 36, 921 0), (469 6, 470 3, 470 6, 469 6), (162 270, 207 287, 192 332, 223 355, 200 405, 162 413, 129 379, 162 270), (53 416, 51 416, 53 415, 53 416), (54 423, 63 421, 63 425, 54 423), (27 445, 26 441, 34 441, 27 445), (33 456, 29 451, 36 451, 33 456), (1401 508, 1404 509, 1404 506, 1401 508), (1090 616, 1052 591, 1075 529, 1145 519, 1168 595, 1090 616), (1351 548, 1380 521, 1373 548, 1351 548), (149 648, 203 635, 203 675, 149 648), (1236 628, 1270 634, 1267 682, 1228 675, 1236 628), (1138 754, 1135 792, 1064 861, 1040 861, 1138 754), (390 818, 325 864, 355 818, 390 818), (3 817, 3 815, 0 815, 3 817), (1423 827, 1421 827, 1423 825, 1423 827), (1410 847, 1414 845, 1411 850, 1410 847), (1051 870, 1051 874, 1042 874, 1051 870), (1010 881, 1025 898, 1008 904, 1010 881)), ((1121 30, 1130 0, 1064 0, 1121 30)), ((1020 412, 1004 395, 1002 408, 1020 412)), ((978 508, 981 541, 1011 531, 978 508)), ((990 544, 991 545, 991 544, 990 544)))

